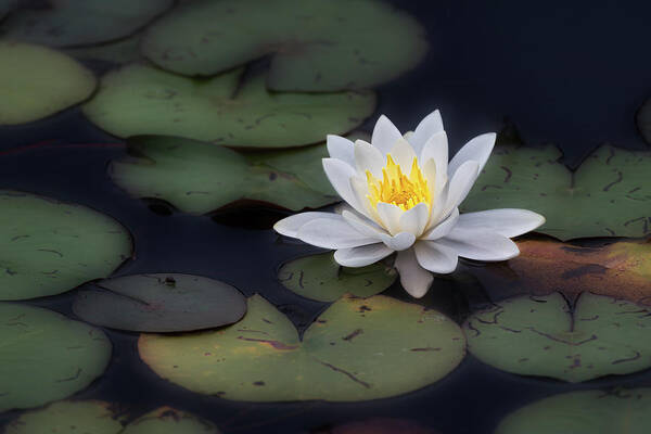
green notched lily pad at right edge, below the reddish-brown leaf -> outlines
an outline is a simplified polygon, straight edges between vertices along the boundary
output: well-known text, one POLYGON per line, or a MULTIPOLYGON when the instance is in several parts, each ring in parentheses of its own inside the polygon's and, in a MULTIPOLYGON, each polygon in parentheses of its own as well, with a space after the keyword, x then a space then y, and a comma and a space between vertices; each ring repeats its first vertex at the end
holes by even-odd
POLYGON ((559 293, 518 296, 463 324, 468 349, 507 372, 569 382, 651 367, 651 315, 633 303, 583 293, 573 310, 559 293))

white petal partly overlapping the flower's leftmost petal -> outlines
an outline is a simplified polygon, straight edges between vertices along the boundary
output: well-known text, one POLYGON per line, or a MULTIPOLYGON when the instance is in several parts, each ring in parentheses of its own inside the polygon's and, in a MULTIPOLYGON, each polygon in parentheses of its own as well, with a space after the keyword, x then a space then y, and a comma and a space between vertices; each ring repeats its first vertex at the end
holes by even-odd
POLYGON ((323 248, 348 248, 378 242, 376 238, 359 233, 341 216, 339 217, 339 220, 332 218, 311 220, 298 229, 296 238, 305 243, 323 248))

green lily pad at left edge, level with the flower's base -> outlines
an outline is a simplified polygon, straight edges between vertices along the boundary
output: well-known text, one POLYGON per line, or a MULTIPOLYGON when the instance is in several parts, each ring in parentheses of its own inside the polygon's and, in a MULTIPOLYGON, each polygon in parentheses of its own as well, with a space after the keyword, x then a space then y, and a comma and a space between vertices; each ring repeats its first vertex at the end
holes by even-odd
POLYGON ((131 255, 128 231, 81 205, 0 190, 0 299, 69 291, 131 255))

